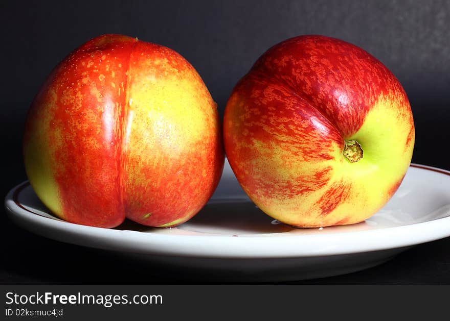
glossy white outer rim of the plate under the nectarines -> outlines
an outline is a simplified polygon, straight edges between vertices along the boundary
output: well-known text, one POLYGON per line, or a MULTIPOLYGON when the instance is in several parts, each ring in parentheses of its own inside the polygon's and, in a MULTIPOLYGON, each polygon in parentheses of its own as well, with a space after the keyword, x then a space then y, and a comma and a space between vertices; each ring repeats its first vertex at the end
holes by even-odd
MULTIPOLYGON (((438 167, 416 163, 411 163, 410 167, 450 176, 450 170, 438 167)), ((222 259, 299 258, 398 249, 450 236, 450 213, 445 217, 409 225, 323 235, 296 234, 273 237, 257 234, 232 237, 219 234, 169 235, 104 229, 48 218, 26 209, 18 202, 17 196, 28 185, 29 181, 16 185, 5 197, 7 214, 15 224, 44 237, 103 250, 222 259), (424 230, 432 233, 423 233, 424 230), (384 233, 384 240, 378 243, 377 235, 381 232, 384 233), (364 242, 361 242, 361 236, 365 237, 364 242), (355 242, 358 238, 359 241, 355 242), (207 245, 201 245, 206 239, 207 245), (118 240, 125 241, 120 244, 118 240), (179 242, 183 242, 183 248, 188 247, 192 250, 177 249, 176 245, 179 245, 179 242), (311 246, 310 243, 317 246, 311 246), (245 248, 242 249, 242 246, 245 248)))

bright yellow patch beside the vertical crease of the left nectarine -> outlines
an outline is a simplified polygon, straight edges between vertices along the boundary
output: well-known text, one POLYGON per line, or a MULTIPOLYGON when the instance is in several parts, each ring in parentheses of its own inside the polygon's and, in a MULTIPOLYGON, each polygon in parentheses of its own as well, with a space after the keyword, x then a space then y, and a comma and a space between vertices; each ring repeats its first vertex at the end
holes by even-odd
MULTIPOLYGON (((158 75, 134 69, 130 72, 133 80, 128 88, 124 146, 126 150, 133 151, 132 154, 126 153, 126 157, 132 159, 127 161, 128 183, 134 184, 139 181, 144 183, 141 168, 164 167, 168 159, 181 157, 186 146, 201 141, 204 133, 210 132, 207 127, 212 126, 210 119, 214 115, 211 105, 205 106, 211 98, 208 98, 207 92, 198 91, 193 75, 165 75, 156 80, 158 75)), ((149 183, 160 182, 152 178, 149 183)))

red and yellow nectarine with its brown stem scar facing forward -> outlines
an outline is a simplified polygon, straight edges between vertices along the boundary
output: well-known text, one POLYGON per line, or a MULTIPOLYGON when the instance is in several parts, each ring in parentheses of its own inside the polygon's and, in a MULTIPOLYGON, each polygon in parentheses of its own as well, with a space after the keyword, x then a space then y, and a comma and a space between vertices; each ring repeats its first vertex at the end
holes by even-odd
POLYGON ((406 93, 350 43, 300 36, 264 53, 234 88, 224 147, 244 191, 266 214, 298 227, 354 224, 383 207, 411 162, 406 93), (350 163, 345 142, 363 158, 350 163))

